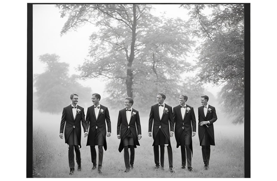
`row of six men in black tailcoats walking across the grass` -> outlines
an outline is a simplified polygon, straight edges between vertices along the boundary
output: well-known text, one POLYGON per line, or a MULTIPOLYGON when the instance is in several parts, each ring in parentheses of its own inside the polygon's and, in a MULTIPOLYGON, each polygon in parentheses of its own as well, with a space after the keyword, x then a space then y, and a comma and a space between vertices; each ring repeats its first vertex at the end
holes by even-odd
MULTIPOLYGON (((107 150, 106 136, 111 136, 111 121, 108 108, 99 103, 101 96, 98 93, 92 94, 93 105, 87 108, 85 118, 84 108, 77 105, 78 95, 70 95, 72 103, 64 107, 61 118, 60 138, 65 138, 68 145, 68 160, 70 175, 74 173, 74 149, 78 171, 81 171, 81 125, 84 129, 84 137, 87 137, 87 146, 90 146, 92 170, 98 169, 102 173, 103 147, 107 150), (106 126, 107 125, 107 126, 106 126), (98 146, 98 167, 96 164, 96 149, 98 146)), ((161 166, 164 170, 164 147, 167 147, 169 171, 173 170, 173 155, 170 144, 170 137, 175 133, 177 148, 181 147, 181 168, 193 171, 191 157, 193 153, 192 137, 196 135, 196 118, 193 107, 186 104, 188 97, 180 95, 180 104, 172 107, 165 104, 166 96, 158 93, 158 104, 151 106, 149 115, 148 136, 153 137, 153 149, 155 169, 161 166), (175 125, 175 128, 174 128, 175 125), (160 147, 160 152, 159 152, 160 147), (160 153, 160 156, 159 156, 160 153)), ((210 145, 215 145, 213 123, 217 120, 215 107, 207 102, 208 96, 201 96, 201 107, 198 107, 198 136, 202 147, 204 169, 207 170, 210 160, 210 145)), ((119 152, 124 149, 125 171, 129 172, 134 168, 135 148, 139 146, 141 139, 141 124, 139 111, 132 106, 134 101, 127 97, 124 100, 125 108, 119 111, 117 122, 117 138, 120 139, 119 152), (130 156, 129 156, 130 148, 130 156)))

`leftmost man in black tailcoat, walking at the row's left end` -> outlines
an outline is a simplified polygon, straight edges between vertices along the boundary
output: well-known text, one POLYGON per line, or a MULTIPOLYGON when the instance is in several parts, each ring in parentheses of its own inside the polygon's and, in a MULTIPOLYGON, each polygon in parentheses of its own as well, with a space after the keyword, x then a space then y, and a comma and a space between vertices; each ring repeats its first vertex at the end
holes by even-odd
POLYGON ((78 171, 81 171, 81 122, 84 129, 84 137, 87 136, 86 121, 84 108, 77 105, 78 94, 70 95, 71 104, 64 107, 61 116, 60 138, 65 138, 65 143, 68 145, 68 161, 70 168, 70 175, 74 173, 74 149, 76 153, 76 161, 78 164, 78 171), (65 126, 64 126, 65 125, 65 126), (64 133, 64 134, 63 134, 64 133))

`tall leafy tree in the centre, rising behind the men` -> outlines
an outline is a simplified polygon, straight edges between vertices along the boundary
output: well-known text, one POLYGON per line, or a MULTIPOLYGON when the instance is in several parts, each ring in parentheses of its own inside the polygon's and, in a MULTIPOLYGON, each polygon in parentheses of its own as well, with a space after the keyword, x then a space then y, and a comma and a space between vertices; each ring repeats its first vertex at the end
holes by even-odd
POLYGON ((79 66, 84 79, 107 80, 108 100, 114 107, 126 96, 149 109, 156 94, 174 94, 180 74, 189 70, 185 61, 194 42, 186 22, 155 17, 149 4, 57 5, 68 20, 61 35, 89 22, 99 27, 90 36, 90 60, 79 66), (143 101, 141 101, 143 100, 143 101), (146 102, 144 102, 146 101, 146 102), (147 105, 147 106, 145 106, 147 105))

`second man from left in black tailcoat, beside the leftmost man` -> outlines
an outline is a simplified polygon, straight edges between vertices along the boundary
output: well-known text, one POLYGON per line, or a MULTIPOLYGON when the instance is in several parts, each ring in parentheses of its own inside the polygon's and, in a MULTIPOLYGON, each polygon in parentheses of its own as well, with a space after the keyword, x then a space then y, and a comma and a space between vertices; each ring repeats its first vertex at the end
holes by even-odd
POLYGON ((98 93, 92 94, 93 105, 87 108, 87 146, 90 146, 91 162, 93 163, 92 170, 96 169, 96 149, 98 145, 98 173, 101 174, 102 161, 103 161, 103 146, 105 151, 107 150, 107 137, 111 136, 111 121, 110 114, 107 107, 100 105, 99 101, 101 96, 98 93), (106 128, 106 122, 108 127, 108 133, 106 128))

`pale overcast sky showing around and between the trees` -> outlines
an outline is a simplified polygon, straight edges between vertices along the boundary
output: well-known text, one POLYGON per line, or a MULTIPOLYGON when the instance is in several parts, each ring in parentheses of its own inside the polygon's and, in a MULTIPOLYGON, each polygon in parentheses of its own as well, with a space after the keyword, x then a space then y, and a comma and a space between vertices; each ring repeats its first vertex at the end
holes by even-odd
MULTIPOLYGON (((182 18, 188 20, 188 10, 179 8, 180 4, 153 4, 155 10, 152 13, 156 16, 166 13, 169 18, 182 18)), ((209 11, 207 11, 209 13, 209 11)), ((69 31, 62 37, 60 32, 67 18, 61 18, 59 9, 54 4, 34 4, 33 5, 33 73, 41 74, 44 72, 45 65, 39 61, 42 54, 56 53, 60 56, 60 62, 69 63, 69 74, 79 74, 75 68, 84 62, 89 52, 89 36, 98 29, 92 24, 86 24, 77 29, 69 31)), ((196 55, 188 57, 187 61, 193 63, 196 55)), ((194 73, 186 73, 185 76, 194 76, 194 73)), ((93 92, 98 92, 105 97, 104 84, 99 79, 89 79, 79 81, 82 85, 92 88, 93 92), (98 85, 97 87, 92 85, 98 85)), ((215 96, 221 87, 207 85, 207 91, 215 96)))

